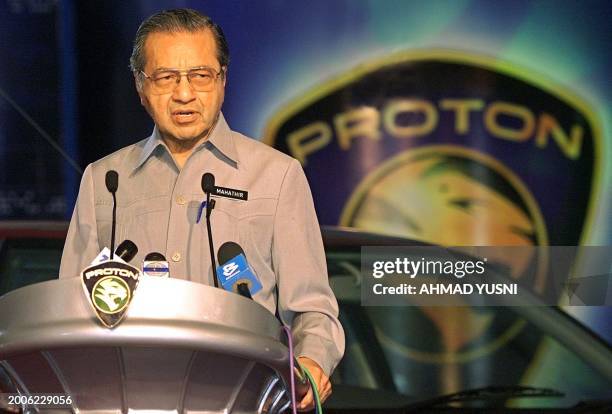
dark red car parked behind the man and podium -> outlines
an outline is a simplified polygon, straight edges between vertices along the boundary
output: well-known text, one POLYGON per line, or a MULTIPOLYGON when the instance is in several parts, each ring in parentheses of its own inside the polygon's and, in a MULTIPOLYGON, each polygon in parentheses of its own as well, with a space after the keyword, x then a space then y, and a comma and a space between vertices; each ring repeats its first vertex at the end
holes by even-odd
MULTIPOLYGON (((0 223, 0 296, 56 278, 66 231, 65 222, 0 223)), ((362 248, 424 244, 322 234, 346 333, 325 412, 612 412, 612 348, 561 308, 535 295, 523 306, 363 306, 362 248)))

